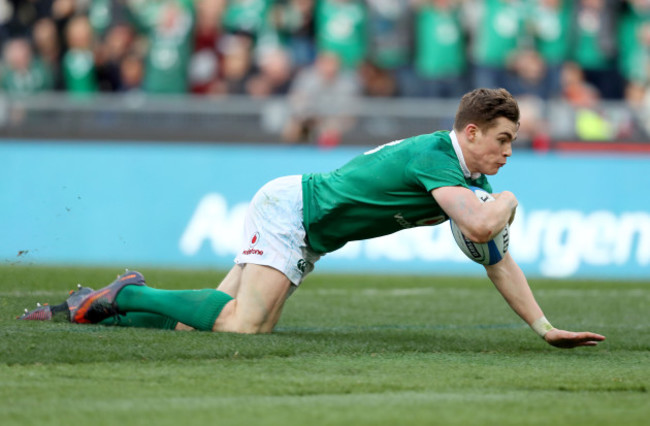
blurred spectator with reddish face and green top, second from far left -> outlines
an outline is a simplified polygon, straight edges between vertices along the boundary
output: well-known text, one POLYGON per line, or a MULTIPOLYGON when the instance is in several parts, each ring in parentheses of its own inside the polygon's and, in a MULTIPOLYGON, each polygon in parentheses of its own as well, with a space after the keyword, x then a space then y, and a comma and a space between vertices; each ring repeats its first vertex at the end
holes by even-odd
POLYGON ((65 28, 68 50, 63 55, 63 82, 66 91, 94 93, 98 89, 93 52, 94 35, 86 16, 78 15, 65 28))

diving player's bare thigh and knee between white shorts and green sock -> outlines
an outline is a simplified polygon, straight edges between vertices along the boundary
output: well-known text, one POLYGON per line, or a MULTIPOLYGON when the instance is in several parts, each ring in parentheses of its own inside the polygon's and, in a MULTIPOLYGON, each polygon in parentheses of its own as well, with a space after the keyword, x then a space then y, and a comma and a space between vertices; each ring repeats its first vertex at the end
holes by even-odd
POLYGON ((270 266, 246 264, 239 289, 214 325, 214 331, 269 333, 280 318, 291 281, 270 266))

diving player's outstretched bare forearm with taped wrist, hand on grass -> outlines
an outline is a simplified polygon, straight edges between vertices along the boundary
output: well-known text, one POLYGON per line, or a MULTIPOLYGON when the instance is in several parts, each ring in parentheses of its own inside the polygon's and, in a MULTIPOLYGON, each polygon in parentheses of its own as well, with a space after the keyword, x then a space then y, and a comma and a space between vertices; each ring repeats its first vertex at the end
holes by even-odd
POLYGON ((576 333, 554 328, 544 317, 542 309, 530 290, 526 276, 509 253, 506 253, 501 262, 486 265, 485 270, 508 305, 550 345, 558 348, 574 348, 595 346, 605 340, 604 336, 596 333, 576 333))

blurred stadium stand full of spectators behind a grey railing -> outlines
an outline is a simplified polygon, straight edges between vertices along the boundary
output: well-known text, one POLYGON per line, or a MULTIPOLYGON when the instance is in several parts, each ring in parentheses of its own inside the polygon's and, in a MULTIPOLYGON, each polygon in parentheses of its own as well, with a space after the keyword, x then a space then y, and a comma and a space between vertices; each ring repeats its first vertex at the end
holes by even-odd
POLYGON ((500 86, 520 146, 650 140, 647 0, 0 0, 0 43, 7 138, 375 144, 500 86))

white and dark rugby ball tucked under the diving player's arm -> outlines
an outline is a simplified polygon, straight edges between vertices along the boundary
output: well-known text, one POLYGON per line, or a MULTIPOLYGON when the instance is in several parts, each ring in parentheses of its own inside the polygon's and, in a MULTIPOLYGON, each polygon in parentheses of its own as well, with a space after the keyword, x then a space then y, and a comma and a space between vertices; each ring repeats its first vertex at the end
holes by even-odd
MULTIPOLYGON (((474 194, 481 200, 482 203, 489 203, 494 201, 494 197, 484 189, 470 186, 474 194)), ((482 265, 494 265, 503 259, 503 256, 508 252, 508 243, 510 242, 510 229, 506 225, 501 232, 499 232, 491 241, 487 243, 475 243, 467 238, 458 228, 458 225, 453 220, 449 220, 451 225, 451 233, 454 235, 456 244, 465 253, 465 256, 470 258, 476 263, 482 265)))

